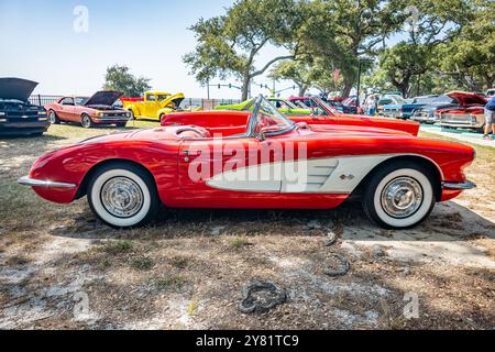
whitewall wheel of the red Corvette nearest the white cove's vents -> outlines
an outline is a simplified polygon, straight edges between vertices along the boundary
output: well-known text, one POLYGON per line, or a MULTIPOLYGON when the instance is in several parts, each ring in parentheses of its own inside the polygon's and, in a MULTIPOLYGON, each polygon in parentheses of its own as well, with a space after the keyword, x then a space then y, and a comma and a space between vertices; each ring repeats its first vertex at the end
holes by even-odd
POLYGON ((433 177, 425 167, 402 162, 380 168, 364 188, 367 217, 386 229, 409 229, 421 223, 436 204, 433 177))

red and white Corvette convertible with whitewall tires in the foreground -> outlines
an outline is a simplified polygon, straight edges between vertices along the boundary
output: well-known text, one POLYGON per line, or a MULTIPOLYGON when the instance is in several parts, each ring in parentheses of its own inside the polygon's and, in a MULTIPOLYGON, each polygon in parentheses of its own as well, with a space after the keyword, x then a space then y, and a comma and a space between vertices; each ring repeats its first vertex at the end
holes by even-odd
MULTIPOLYGON (((114 228, 175 208, 331 209, 353 193, 378 226, 417 226, 438 201, 475 187, 462 144, 407 132, 295 123, 263 97, 252 111, 176 114, 176 123, 92 138, 51 152, 19 182, 68 204, 87 196, 114 228), (190 114, 189 114, 190 116, 190 114), (176 125, 174 125, 176 124, 176 125)), ((170 121, 172 122, 172 121, 170 121)))

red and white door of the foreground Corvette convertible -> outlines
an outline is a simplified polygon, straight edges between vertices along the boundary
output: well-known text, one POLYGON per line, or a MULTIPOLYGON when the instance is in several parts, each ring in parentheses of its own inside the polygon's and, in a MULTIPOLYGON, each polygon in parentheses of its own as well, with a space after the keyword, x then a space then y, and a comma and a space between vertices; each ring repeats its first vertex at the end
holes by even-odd
POLYGON ((178 155, 180 188, 212 200, 239 191, 279 193, 282 176, 274 156, 262 155, 268 146, 270 141, 245 136, 184 140, 178 155))

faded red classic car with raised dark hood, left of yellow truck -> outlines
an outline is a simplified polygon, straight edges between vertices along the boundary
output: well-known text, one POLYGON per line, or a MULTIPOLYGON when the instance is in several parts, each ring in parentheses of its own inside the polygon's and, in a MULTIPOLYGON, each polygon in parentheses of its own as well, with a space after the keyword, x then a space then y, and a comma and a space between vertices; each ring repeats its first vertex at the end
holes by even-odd
POLYGON ((125 127, 130 113, 113 103, 122 96, 119 91, 98 91, 92 97, 64 97, 45 107, 53 124, 65 122, 80 123, 89 129, 95 124, 116 124, 125 127))

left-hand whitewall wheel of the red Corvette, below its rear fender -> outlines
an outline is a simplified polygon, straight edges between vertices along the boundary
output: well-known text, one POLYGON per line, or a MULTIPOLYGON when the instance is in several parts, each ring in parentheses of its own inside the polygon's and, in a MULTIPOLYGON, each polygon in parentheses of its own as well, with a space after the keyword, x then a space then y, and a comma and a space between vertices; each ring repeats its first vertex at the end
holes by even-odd
POLYGON ((101 221, 117 229, 145 226, 158 209, 153 178, 127 163, 112 163, 98 169, 89 182, 88 201, 101 221))

